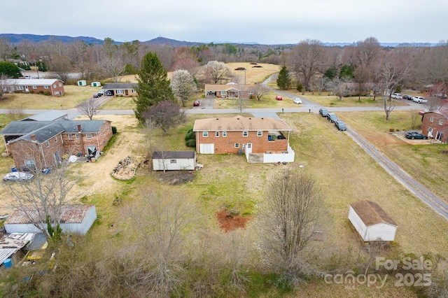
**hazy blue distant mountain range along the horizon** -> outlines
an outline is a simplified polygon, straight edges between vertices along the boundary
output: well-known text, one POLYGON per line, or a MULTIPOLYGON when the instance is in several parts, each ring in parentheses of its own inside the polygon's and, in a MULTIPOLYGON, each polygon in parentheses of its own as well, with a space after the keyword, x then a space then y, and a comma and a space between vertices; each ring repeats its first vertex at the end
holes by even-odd
MULTIPOLYGON (((21 41, 29 41, 31 43, 39 43, 42 41, 62 41, 63 43, 73 43, 73 41, 85 41, 88 44, 92 45, 101 45, 104 43, 104 40, 94 38, 94 37, 88 37, 88 36, 60 36, 60 35, 35 35, 35 34, 0 34, 0 38, 6 38, 10 41, 10 43, 17 44, 21 41)), ((159 44, 159 45, 172 45, 175 47, 179 46, 197 46, 207 43, 196 43, 196 42, 190 42, 190 41, 176 41, 174 39, 165 38, 162 36, 159 36, 157 38, 153 38, 150 41, 140 41, 143 44, 159 44)), ((123 41, 115 41, 115 43, 120 44, 123 43, 123 41)), ((214 42, 216 44, 220 43, 231 43, 231 44, 241 44, 241 45, 258 45, 258 43, 255 42, 246 42, 246 43, 232 43, 229 41, 226 42, 214 42)), ((353 43, 323 43, 323 45, 327 46, 346 46, 351 45, 353 43)), ((393 48, 398 45, 412 45, 412 46, 434 46, 438 45, 437 43, 380 43, 381 46, 387 47, 387 48, 393 48)), ((293 45, 293 44, 288 44, 293 45)))

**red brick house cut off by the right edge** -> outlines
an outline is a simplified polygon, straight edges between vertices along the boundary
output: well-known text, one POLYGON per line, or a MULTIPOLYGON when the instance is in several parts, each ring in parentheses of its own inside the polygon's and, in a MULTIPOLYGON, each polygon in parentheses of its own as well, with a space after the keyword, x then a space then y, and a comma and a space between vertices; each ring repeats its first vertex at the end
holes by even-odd
POLYGON ((432 134, 433 138, 447 143, 448 141, 448 108, 440 111, 428 111, 421 118, 421 132, 426 136, 432 134))

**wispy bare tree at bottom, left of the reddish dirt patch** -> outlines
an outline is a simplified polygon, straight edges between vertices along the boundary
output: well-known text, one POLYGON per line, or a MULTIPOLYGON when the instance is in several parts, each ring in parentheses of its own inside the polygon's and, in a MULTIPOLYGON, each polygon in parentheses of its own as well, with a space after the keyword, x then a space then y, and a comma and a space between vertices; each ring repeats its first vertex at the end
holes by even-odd
POLYGON ((182 194, 147 190, 143 199, 125 208, 127 220, 138 231, 123 252, 129 264, 125 270, 146 295, 169 297, 186 282, 182 263, 192 207, 182 194))

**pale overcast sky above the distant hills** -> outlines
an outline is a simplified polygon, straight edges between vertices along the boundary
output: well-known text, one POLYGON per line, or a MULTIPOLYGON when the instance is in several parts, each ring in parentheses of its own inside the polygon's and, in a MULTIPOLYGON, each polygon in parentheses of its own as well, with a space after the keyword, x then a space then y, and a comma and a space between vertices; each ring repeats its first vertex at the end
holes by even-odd
POLYGON ((0 0, 0 33, 193 42, 438 43, 447 0, 0 0), (9 12, 9 13, 8 13, 9 12))

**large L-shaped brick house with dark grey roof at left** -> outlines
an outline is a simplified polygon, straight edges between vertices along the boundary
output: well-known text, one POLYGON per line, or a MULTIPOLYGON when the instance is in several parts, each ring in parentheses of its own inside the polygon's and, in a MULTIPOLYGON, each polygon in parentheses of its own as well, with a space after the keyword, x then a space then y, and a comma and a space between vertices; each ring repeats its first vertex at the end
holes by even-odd
POLYGON ((13 121, 0 134, 21 171, 51 168, 64 155, 98 157, 112 136, 108 120, 13 121))

